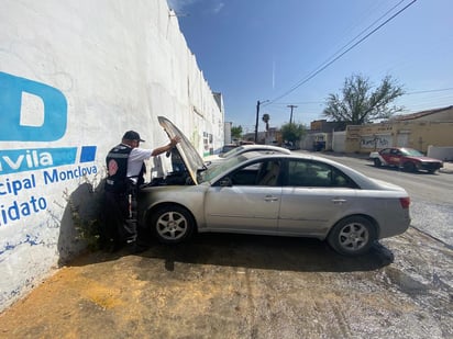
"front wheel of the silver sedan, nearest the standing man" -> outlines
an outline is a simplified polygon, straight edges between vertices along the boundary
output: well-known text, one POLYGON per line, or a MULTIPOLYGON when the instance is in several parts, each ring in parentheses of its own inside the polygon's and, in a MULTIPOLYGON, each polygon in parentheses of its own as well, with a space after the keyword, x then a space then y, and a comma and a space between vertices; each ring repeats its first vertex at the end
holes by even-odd
POLYGON ((178 205, 167 205, 154 211, 148 226, 157 241, 162 244, 180 244, 194 233, 192 215, 178 205))

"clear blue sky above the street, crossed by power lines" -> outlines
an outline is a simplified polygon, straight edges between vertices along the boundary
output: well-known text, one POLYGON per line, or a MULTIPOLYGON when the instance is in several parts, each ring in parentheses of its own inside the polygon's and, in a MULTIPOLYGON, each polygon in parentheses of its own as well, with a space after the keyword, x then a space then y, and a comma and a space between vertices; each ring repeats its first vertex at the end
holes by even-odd
POLYGON ((211 90, 223 94, 225 121, 244 133, 255 128, 258 100, 270 127, 289 122, 288 105, 297 105, 296 123, 325 118, 325 99, 352 75, 375 86, 391 76, 407 92, 395 102, 404 113, 453 104, 452 0, 167 2, 211 90))

